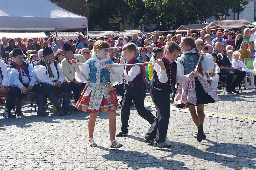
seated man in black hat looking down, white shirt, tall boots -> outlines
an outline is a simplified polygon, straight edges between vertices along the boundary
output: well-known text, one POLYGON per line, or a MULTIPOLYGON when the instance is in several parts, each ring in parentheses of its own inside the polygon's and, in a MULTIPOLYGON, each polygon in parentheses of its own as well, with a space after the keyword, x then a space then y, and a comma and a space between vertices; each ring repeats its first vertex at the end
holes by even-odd
POLYGON ((40 85, 45 90, 45 94, 57 109, 60 116, 76 110, 74 106, 69 107, 71 85, 68 83, 62 83, 65 76, 61 70, 61 64, 58 61, 53 60, 54 55, 52 49, 50 47, 44 48, 43 56, 44 58, 41 58, 38 62, 34 63, 34 70, 40 85), (54 94, 54 91, 63 92, 62 108, 54 94))

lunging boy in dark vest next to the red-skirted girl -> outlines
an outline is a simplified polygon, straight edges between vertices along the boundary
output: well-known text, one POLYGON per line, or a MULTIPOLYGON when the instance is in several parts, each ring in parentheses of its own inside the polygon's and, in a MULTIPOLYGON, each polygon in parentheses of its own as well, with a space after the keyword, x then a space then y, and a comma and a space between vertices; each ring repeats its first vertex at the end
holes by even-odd
MULTIPOLYGON (((123 51, 126 64, 139 63, 135 57, 136 50, 137 46, 133 43, 127 43, 124 45, 123 51)), ((123 63, 124 58, 122 57, 120 59, 120 63, 123 63)), ((142 118, 147 120, 150 124, 155 121, 155 116, 153 116, 153 114, 144 107, 146 79, 144 77, 142 67, 140 65, 126 66, 122 77, 125 80, 125 92, 121 108, 122 131, 116 134, 117 137, 128 134, 128 120, 132 101, 135 104, 137 112, 142 118)))

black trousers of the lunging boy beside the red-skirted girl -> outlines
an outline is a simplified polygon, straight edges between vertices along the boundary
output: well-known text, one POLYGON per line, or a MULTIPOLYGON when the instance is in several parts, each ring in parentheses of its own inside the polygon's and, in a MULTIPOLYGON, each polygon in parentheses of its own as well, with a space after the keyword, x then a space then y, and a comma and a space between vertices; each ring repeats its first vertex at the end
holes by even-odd
POLYGON ((137 112, 139 113, 140 117, 147 120, 150 124, 152 124, 155 120, 155 116, 144 107, 144 98, 146 95, 146 91, 137 95, 132 96, 130 91, 127 90, 128 85, 125 84, 125 92, 124 92, 124 99, 121 108, 121 120, 122 120, 122 127, 121 130, 123 133, 128 133, 128 120, 130 116, 130 106, 132 101, 136 107, 137 112))

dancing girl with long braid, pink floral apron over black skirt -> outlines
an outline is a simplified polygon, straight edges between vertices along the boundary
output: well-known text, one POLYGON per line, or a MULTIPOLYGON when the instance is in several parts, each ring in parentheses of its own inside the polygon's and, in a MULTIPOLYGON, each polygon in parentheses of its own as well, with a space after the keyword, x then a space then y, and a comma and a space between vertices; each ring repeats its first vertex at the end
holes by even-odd
MULTIPOLYGON (((196 43, 193 38, 185 37, 181 40, 182 56, 177 59, 177 74, 187 75, 195 70, 199 54, 196 48, 196 43)), ((191 80, 180 83, 174 98, 174 106, 179 108, 187 108, 191 117, 198 128, 197 135, 195 135, 198 142, 205 139, 203 130, 204 123, 204 104, 215 103, 220 100, 211 85, 204 80, 203 72, 208 72, 211 80, 215 80, 216 73, 214 70, 214 62, 212 55, 206 54, 201 56, 200 63, 197 69, 198 76, 191 80), (197 114, 195 106, 197 106, 197 114)))

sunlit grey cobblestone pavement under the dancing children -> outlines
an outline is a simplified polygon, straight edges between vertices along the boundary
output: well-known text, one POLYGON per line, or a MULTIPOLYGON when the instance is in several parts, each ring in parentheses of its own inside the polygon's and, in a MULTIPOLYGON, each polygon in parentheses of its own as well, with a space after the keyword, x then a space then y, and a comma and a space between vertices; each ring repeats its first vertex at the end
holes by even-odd
MULTIPOLYGON (((206 111, 256 118, 255 90, 220 94, 221 101, 206 105, 206 111)), ((149 96, 146 101, 152 102, 149 96)), ((150 126, 133 106, 128 135, 117 138, 124 147, 110 149, 106 113, 98 114, 96 121, 94 139, 98 147, 90 147, 88 113, 37 117, 28 103, 23 107, 24 116, 0 118, 0 169, 256 169, 255 124, 206 117, 207 140, 198 143, 190 114, 171 111, 166 142, 172 148, 157 149, 143 142, 150 126)), ((147 108, 155 114, 154 107, 147 108)), ((120 110, 116 128, 119 132, 120 110)))

